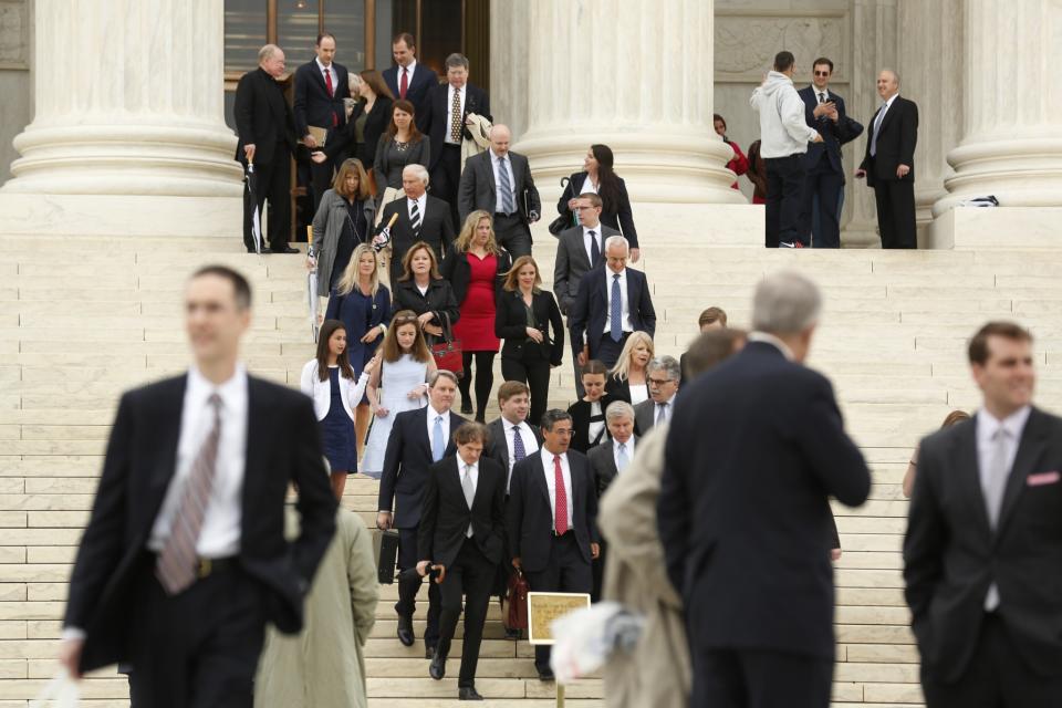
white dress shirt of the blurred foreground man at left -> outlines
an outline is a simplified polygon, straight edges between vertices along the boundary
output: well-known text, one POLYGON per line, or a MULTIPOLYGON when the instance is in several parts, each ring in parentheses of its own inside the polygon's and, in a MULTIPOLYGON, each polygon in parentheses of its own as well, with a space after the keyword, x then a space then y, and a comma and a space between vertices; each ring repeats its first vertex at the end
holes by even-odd
POLYGON ((147 548, 156 553, 163 550, 169 538, 192 462, 214 427, 214 413, 209 404, 212 394, 221 397, 221 437, 218 440, 210 502, 196 542, 196 553, 200 558, 229 558, 240 552, 248 416, 247 369, 241 364, 237 365, 232 377, 220 386, 207 381, 195 366, 188 371, 180 414, 180 438, 177 441, 177 467, 147 542, 147 548))

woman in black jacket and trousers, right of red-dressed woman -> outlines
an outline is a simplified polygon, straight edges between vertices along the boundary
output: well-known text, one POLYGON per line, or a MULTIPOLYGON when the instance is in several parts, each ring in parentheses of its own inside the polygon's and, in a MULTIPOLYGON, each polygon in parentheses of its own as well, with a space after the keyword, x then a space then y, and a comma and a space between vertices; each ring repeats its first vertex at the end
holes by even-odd
POLYGON ((550 367, 564 354, 564 321, 553 293, 540 290, 542 278, 530 256, 521 256, 506 278, 494 309, 494 335, 501 347, 501 375, 531 389, 530 419, 537 423, 550 397, 550 367), (553 336, 550 336, 552 329, 553 336))

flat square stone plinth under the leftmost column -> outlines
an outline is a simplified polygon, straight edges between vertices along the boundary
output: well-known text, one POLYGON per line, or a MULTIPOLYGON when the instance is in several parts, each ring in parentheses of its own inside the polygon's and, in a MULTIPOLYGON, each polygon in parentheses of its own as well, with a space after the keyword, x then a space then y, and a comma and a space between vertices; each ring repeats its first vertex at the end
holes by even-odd
POLYGON ((0 192, 0 233, 243 240, 242 197, 0 192))

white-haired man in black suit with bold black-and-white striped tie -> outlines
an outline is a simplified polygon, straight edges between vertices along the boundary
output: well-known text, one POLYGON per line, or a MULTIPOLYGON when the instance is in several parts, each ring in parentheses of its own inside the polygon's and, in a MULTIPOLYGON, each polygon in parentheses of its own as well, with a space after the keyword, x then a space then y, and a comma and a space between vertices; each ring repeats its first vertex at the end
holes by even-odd
POLYGON ((402 189, 406 196, 384 207, 381 226, 391 223, 392 217, 398 216, 391 228, 392 290, 402 275, 402 261, 414 243, 424 241, 430 246, 436 261, 441 263, 442 256, 454 242, 450 206, 427 194, 427 188, 428 170, 423 165, 406 165, 402 170, 402 189))

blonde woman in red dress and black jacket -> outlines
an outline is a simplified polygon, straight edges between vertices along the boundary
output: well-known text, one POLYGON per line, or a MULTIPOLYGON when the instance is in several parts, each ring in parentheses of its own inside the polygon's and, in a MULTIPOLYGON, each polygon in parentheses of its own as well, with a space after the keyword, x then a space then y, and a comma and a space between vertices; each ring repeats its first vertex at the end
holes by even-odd
POLYGON ((490 388, 494 384, 494 355, 500 342, 494 336, 494 303, 500 283, 512 268, 512 257, 498 246, 492 218, 487 211, 472 211, 442 259, 442 277, 450 281, 460 303, 461 316, 454 325, 454 337, 461 342, 465 375, 461 413, 472 413, 472 363, 476 368, 476 419, 485 421, 490 388))

